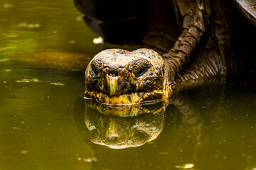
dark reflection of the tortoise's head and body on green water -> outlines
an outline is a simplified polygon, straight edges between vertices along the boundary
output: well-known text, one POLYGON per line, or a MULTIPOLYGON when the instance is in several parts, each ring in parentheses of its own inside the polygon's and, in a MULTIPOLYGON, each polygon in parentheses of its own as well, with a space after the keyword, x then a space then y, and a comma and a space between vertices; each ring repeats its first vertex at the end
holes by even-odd
POLYGON ((255 79, 220 81, 176 94, 169 106, 78 98, 74 123, 95 151, 92 169, 255 169, 255 79))

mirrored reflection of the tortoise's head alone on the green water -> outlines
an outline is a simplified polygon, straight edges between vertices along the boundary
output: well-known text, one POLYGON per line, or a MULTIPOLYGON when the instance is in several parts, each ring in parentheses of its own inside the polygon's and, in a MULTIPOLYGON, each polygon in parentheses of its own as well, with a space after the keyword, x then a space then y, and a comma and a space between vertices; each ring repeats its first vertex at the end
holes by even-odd
POLYGON ((91 141, 112 149, 139 147, 164 128, 166 102, 143 106, 106 106, 85 100, 85 125, 91 141))

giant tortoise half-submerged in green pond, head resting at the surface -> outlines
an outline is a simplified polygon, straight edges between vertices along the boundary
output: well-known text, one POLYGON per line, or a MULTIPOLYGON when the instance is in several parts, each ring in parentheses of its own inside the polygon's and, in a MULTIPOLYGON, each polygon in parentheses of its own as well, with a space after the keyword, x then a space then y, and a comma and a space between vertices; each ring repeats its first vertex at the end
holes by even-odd
POLYGON ((162 101, 218 77, 255 72, 255 4, 75 0, 85 23, 105 42, 142 47, 97 54, 85 70, 85 98, 112 105, 162 101))

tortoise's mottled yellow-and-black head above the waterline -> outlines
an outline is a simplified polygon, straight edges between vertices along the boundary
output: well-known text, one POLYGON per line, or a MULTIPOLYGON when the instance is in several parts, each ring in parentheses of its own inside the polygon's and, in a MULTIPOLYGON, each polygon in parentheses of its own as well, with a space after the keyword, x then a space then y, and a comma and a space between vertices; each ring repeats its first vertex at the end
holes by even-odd
POLYGON ((132 105, 161 101, 170 95, 164 60, 154 50, 104 50, 85 70, 85 98, 100 103, 132 105))

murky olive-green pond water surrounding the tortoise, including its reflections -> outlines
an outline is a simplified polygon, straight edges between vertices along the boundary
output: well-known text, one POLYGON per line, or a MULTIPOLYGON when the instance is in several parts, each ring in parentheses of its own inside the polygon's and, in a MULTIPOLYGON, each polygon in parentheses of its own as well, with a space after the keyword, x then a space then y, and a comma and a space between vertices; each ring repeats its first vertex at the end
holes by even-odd
POLYGON ((82 98, 83 72, 43 63, 115 47, 93 43, 73 1, 1 0, 0 11, 0 169, 256 169, 255 77, 101 106, 82 98))

